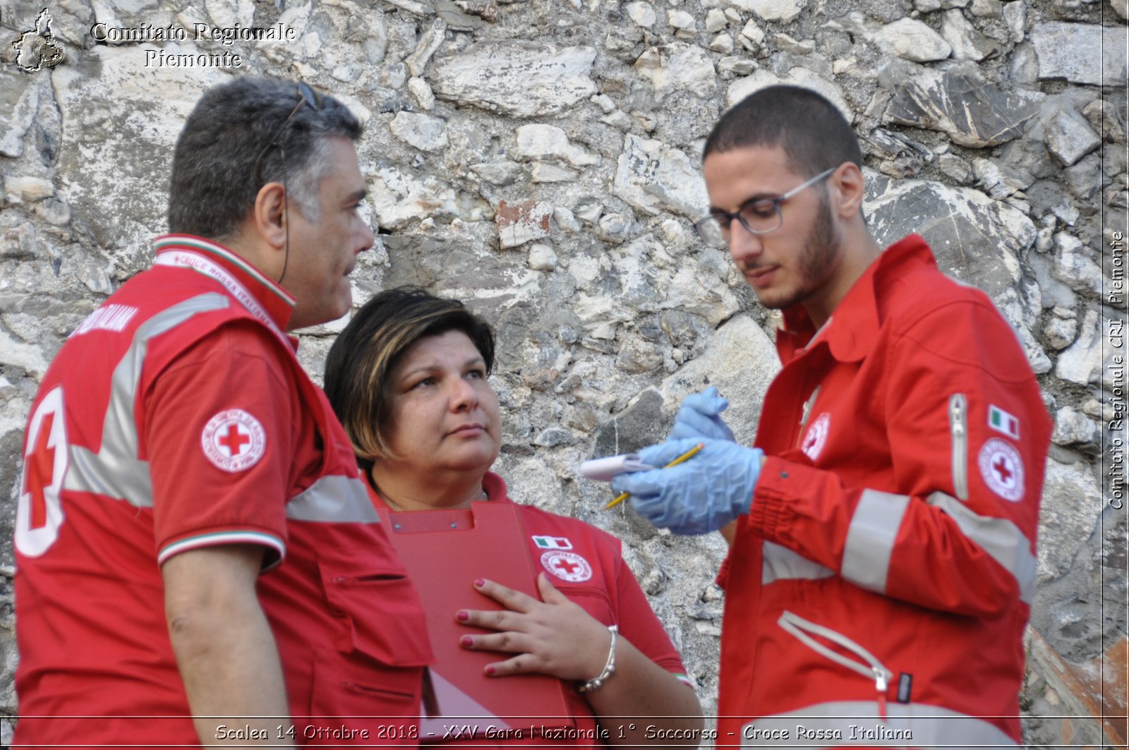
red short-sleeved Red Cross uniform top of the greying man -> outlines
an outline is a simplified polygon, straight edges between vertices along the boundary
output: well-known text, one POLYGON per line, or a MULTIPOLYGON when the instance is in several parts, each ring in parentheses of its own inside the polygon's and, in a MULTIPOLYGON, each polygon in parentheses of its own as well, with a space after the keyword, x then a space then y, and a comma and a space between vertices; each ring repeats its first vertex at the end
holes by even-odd
POLYGON ((423 612, 344 430, 281 331, 291 300, 213 243, 157 247, 155 268, 88 316, 47 370, 17 514, 20 713, 106 718, 23 718, 16 741, 196 744, 159 564, 257 543, 275 566, 259 594, 295 739, 368 730, 380 742, 395 726, 413 742, 431 659, 423 612), (260 375, 231 377, 233 361, 260 375), (338 715, 388 720, 305 718, 338 715))

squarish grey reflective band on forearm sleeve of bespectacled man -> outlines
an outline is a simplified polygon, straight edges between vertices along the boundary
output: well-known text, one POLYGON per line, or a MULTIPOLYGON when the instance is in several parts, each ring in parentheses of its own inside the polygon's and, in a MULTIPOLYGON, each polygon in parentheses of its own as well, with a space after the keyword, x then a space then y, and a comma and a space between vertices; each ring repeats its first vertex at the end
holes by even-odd
POLYGON ((839 568, 843 578, 863 588, 886 593, 890 555, 909 504, 908 495, 863 490, 847 527, 839 568))

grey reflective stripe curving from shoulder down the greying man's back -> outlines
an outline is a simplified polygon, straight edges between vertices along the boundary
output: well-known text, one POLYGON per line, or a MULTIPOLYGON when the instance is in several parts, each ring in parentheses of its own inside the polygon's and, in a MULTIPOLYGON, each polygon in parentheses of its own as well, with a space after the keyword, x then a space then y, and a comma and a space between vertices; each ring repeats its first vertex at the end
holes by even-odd
POLYGON ((102 445, 97 453, 71 446, 70 469, 63 480, 63 489, 96 492, 139 508, 152 507, 149 464, 138 460, 133 412, 149 339, 170 331, 193 315, 224 309, 229 304, 225 295, 210 291, 163 309, 138 326, 133 341, 110 378, 110 402, 102 425, 102 445))

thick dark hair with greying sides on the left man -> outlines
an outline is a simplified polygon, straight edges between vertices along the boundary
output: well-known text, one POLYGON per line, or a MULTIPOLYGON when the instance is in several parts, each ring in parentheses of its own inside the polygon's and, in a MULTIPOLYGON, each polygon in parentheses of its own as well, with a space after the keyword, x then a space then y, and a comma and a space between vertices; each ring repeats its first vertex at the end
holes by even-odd
POLYGON ((169 232, 209 239, 235 234, 259 190, 282 182, 283 169, 288 200, 317 221, 317 188, 330 166, 327 138, 357 140, 361 127, 338 99, 316 98, 316 107, 303 103, 298 84, 277 78, 244 76, 208 89, 176 141, 169 232))

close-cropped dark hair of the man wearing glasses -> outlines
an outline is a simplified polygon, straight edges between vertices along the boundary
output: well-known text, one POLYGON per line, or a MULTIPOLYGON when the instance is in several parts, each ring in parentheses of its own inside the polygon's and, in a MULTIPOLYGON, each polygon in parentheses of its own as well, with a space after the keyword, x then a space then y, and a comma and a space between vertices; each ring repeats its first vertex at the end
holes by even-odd
POLYGON ((702 159, 715 151, 746 147, 781 148, 802 177, 854 162, 863 149, 850 123, 822 95, 800 86, 768 86, 735 104, 714 125, 702 159))

